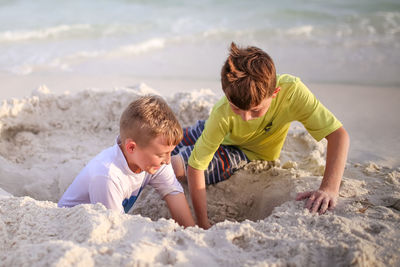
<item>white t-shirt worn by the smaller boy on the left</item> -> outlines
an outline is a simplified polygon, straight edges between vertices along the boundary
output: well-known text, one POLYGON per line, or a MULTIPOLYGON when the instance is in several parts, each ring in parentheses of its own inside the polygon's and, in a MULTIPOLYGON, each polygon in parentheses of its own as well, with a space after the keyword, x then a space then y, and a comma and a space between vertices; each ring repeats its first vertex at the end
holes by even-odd
POLYGON ((102 203, 108 209, 124 213, 122 202, 137 196, 141 187, 151 185, 161 198, 183 193, 172 165, 162 165, 155 174, 134 173, 118 146, 107 148, 92 159, 78 174, 58 202, 59 207, 102 203))

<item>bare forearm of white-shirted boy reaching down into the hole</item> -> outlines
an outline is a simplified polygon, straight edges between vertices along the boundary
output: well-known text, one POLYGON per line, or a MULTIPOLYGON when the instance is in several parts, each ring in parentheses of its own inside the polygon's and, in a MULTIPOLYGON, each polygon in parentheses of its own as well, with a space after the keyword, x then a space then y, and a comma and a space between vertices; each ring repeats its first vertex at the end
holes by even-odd
POLYGON ((181 226, 195 226, 189 205, 183 193, 168 194, 164 197, 172 218, 181 226))

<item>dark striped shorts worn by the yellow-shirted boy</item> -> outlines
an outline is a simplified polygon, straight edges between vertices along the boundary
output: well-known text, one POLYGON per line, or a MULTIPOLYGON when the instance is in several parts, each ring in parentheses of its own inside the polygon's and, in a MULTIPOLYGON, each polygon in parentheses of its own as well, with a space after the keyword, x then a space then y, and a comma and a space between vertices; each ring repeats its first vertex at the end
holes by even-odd
MULTIPOLYGON (((198 121, 194 126, 183 129, 183 139, 172 151, 171 155, 180 154, 188 166, 190 154, 193 151, 196 140, 204 130, 204 120, 198 121)), ((250 160, 239 148, 235 146, 221 145, 215 152, 207 170, 204 171, 206 184, 216 184, 228 179, 235 171, 250 160)))

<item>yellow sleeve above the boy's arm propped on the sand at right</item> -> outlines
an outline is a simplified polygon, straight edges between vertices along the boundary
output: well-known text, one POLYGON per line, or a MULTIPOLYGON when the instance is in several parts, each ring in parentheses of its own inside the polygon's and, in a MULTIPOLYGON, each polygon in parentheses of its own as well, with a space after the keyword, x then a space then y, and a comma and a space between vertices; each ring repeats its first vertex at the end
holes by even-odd
POLYGON ((294 120, 301 122, 317 141, 342 126, 301 81, 298 81, 295 90, 289 96, 289 101, 292 102, 290 106, 294 120))

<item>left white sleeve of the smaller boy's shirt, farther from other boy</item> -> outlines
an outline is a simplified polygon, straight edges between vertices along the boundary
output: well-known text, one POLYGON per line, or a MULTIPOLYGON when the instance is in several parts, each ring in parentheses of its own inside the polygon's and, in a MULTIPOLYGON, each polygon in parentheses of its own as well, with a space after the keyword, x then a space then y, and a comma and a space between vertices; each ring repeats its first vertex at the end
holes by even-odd
POLYGON ((93 177, 89 184, 90 203, 102 203, 107 209, 124 213, 122 207, 123 195, 117 185, 108 177, 93 177))

